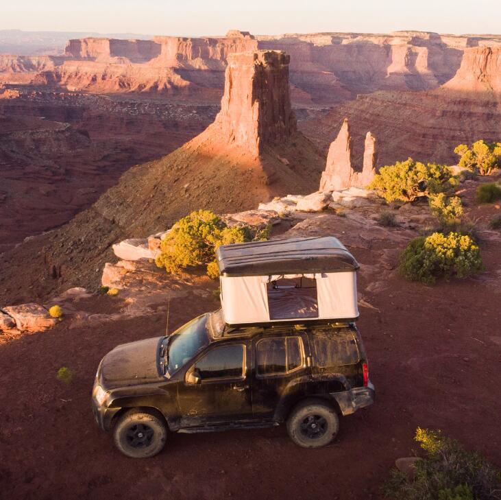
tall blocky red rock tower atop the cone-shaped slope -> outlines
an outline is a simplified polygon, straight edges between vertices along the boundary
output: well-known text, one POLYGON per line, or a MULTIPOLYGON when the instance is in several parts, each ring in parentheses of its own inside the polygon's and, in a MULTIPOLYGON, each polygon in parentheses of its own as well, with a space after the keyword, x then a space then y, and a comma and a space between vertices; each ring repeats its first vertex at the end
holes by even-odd
POLYGON ((266 144, 289 141, 296 131, 289 97, 289 59, 281 51, 228 56, 221 111, 214 123, 223 141, 256 156, 266 144))

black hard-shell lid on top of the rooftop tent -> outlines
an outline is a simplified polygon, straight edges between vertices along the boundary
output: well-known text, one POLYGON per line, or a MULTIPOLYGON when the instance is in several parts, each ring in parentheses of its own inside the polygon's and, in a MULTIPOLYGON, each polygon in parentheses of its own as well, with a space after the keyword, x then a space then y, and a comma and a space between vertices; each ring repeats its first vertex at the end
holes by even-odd
POLYGON ((332 236, 224 245, 216 253, 221 276, 346 272, 360 267, 332 236))

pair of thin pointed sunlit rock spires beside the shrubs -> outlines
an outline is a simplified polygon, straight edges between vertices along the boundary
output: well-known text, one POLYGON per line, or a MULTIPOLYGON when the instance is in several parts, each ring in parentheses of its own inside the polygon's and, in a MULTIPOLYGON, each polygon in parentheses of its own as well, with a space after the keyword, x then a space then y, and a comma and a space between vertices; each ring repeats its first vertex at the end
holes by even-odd
POLYGON ((371 132, 365 136, 363 168, 354 170, 352 166, 352 136, 347 118, 341 130, 332 141, 327 156, 326 169, 320 180, 320 191, 339 191, 349 187, 365 187, 376 175, 376 138, 371 132))

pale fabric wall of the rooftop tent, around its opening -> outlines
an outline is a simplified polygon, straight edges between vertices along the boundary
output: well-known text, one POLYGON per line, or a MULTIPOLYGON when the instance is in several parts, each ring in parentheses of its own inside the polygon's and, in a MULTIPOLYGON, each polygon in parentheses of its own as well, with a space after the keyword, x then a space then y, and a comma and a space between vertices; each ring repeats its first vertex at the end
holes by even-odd
MULTIPOLYGON (((268 305, 267 283, 278 278, 300 275, 275 276, 221 276, 221 304, 228 324, 272 322, 268 305)), ((313 277, 313 274, 305 274, 313 277)), ((318 316, 304 320, 342 320, 357 318, 356 272, 315 274, 317 283, 318 316)), ((297 318, 291 318, 291 321, 297 318)))

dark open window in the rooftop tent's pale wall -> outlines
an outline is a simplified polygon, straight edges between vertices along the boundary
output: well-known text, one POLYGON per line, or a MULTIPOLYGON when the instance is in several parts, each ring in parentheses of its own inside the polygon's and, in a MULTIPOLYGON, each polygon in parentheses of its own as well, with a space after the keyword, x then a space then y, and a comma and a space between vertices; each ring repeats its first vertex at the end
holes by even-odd
POLYGON ((267 284, 270 320, 318 318, 317 281, 314 278, 278 278, 267 284))

